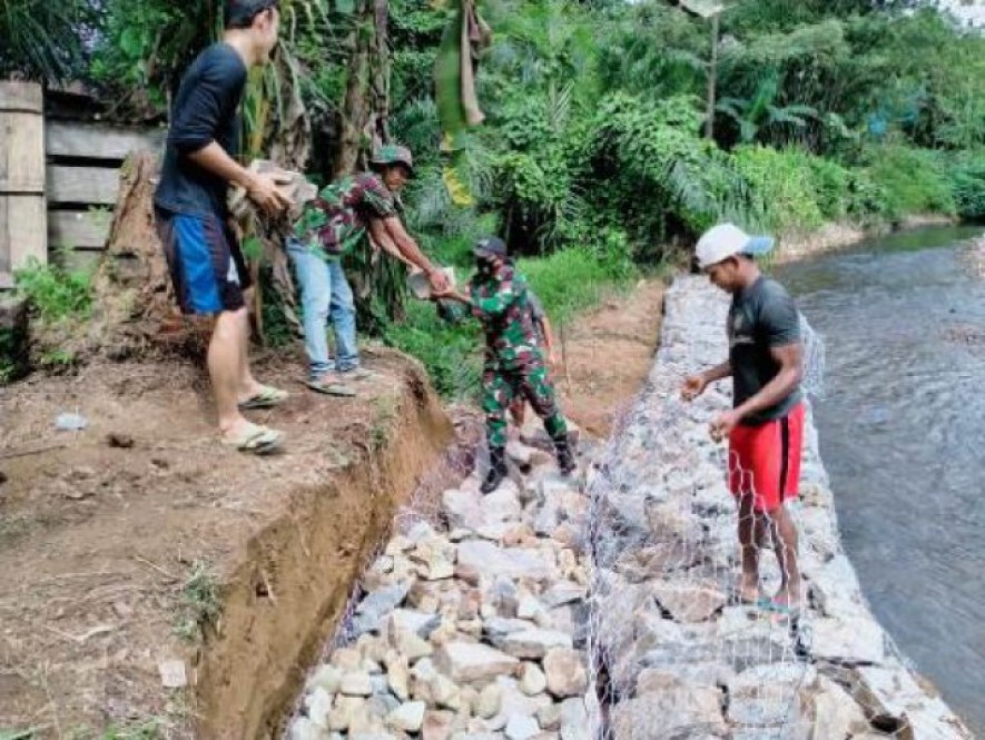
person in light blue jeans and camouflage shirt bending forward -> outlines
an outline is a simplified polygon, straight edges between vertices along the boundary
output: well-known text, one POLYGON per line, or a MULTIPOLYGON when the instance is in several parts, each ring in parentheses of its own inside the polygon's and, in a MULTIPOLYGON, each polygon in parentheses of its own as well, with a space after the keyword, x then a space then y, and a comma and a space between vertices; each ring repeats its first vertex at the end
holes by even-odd
POLYGON ((287 239, 301 286, 307 386, 328 395, 353 396, 348 382, 373 375, 359 363, 355 303, 342 267, 347 254, 372 241, 374 248, 427 275, 436 294, 447 288, 445 275, 421 251, 400 218, 396 194, 414 175, 411 151, 383 146, 370 167, 373 171, 336 179, 306 204, 287 239), (335 332, 334 358, 325 330, 329 320, 335 332))

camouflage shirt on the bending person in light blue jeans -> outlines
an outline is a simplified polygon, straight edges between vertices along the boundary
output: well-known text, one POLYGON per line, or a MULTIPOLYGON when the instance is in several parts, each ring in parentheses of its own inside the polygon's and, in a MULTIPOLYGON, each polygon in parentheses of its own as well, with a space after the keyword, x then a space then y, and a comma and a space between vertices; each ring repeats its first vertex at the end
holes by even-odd
POLYGON ((366 236, 371 218, 396 215, 398 204, 376 175, 343 177, 323 189, 304 207, 294 236, 329 258, 352 251, 366 236))

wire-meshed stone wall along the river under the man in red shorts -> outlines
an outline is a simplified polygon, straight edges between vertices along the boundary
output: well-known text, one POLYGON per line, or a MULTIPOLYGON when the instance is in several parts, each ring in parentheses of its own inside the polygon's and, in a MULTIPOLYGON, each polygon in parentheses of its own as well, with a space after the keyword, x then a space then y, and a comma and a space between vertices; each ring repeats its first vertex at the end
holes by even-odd
MULTIPOLYGON (((589 474, 591 664, 615 740, 971 738, 875 621, 838 536, 808 424, 792 504, 808 586, 799 616, 736 603, 736 511, 712 416, 728 383, 695 403, 683 378, 727 356, 727 298, 703 278, 669 290, 646 389, 589 474)), ((779 570, 764 553, 764 586, 779 570)))

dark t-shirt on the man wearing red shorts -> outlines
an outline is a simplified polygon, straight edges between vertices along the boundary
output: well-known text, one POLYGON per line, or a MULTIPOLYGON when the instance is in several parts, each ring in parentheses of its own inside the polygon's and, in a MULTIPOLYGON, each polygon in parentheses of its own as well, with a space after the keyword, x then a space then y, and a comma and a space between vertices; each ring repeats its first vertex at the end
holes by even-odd
MULTIPOLYGON (((800 342, 800 314, 776 280, 760 277, 732 298, 728 318, 729 363, 738 407, 772 381, 780 369, 770 349, 800 342)), ((800 402, 800 389, 770 408, 742 420, 747 426, 782 418, 800 402)))

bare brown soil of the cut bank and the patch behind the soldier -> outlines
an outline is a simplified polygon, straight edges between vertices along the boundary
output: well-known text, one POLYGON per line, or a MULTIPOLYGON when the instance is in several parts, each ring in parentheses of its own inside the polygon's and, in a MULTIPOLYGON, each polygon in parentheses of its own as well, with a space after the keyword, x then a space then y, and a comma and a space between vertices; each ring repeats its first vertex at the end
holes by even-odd
MULTIPOLYGON (((590 434, 644 381, 662 299, 661 282, 642 282, 567 328, 558 384, 590 434)), ((268 458, 216 444, 207 381, 187 362, 101 363, 0 392, 0 733, 148 718, 173 738, 275 733, 394 511, 453 436, 416 363, 366 356, 381 376, 356 399, 306 393, 298 356, 257 363, 296 392, 253 413, 288 434, 268 458), (63 412, 88 428, 57 432, 63 412), (188 642, 174 626, 193 613, 196 563, 220 616, 188 642), (162 687, 167 660, 185 662, 187 689, 162 687)))

